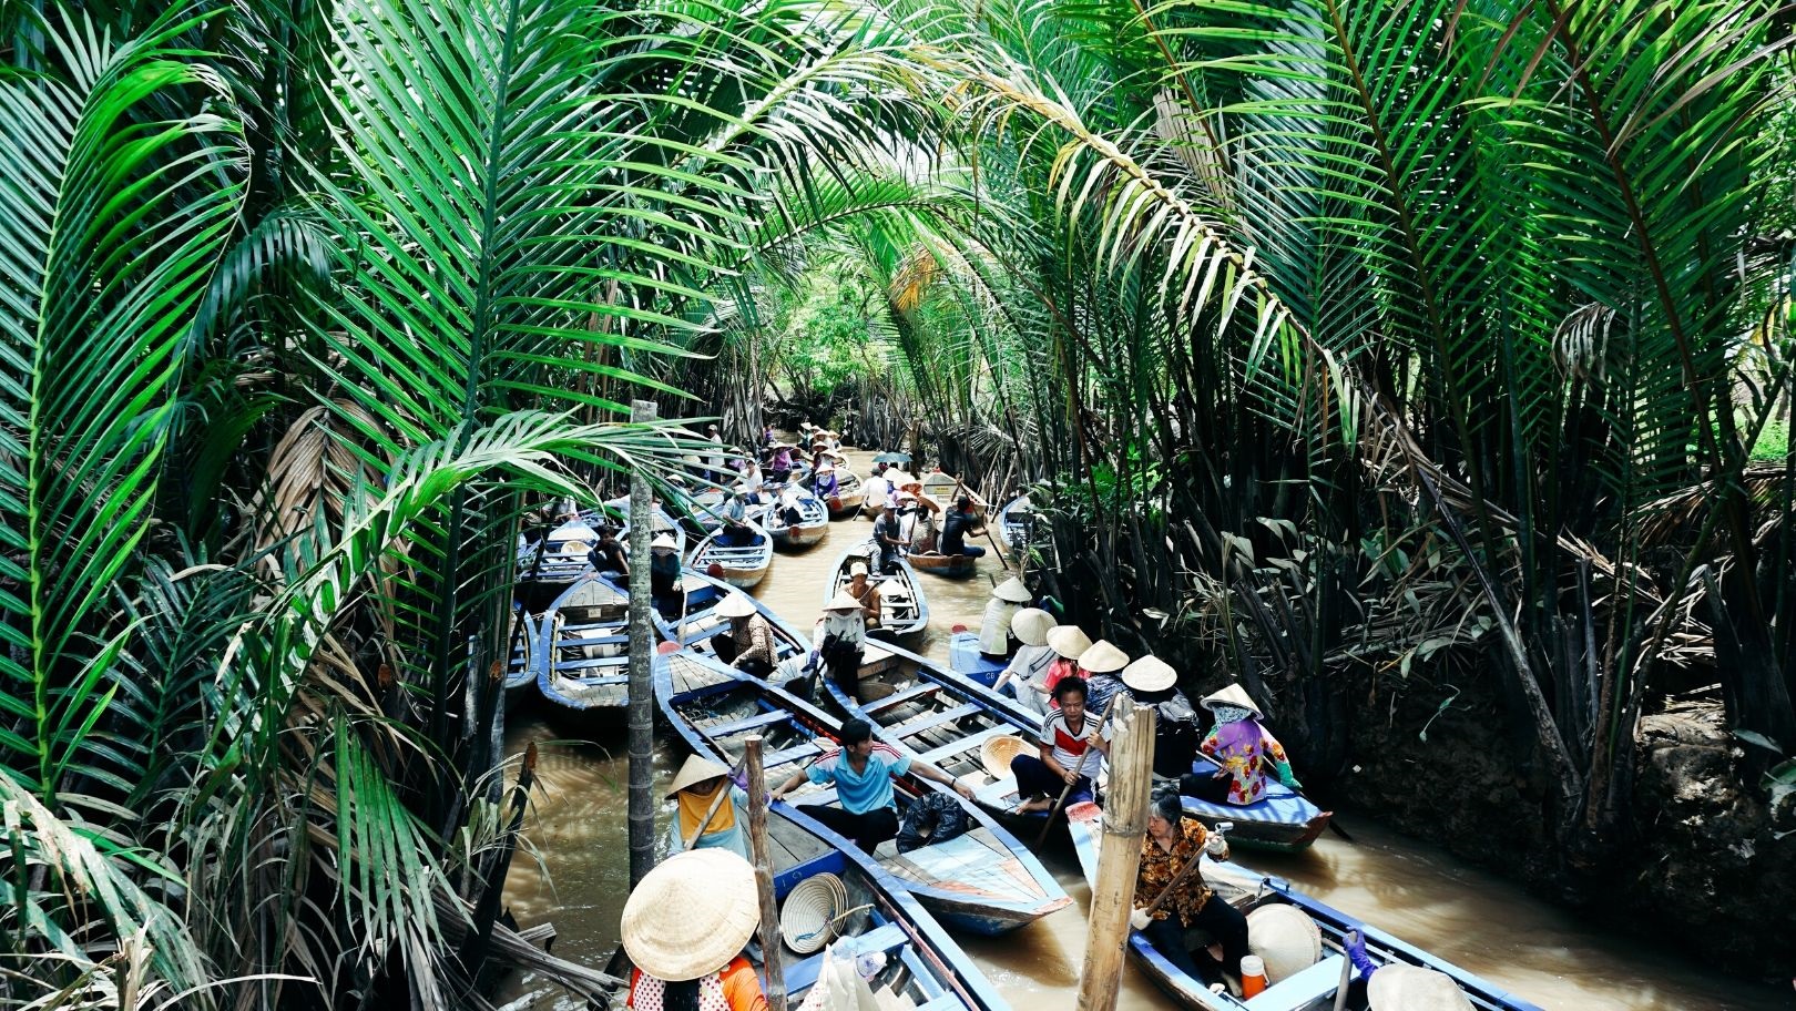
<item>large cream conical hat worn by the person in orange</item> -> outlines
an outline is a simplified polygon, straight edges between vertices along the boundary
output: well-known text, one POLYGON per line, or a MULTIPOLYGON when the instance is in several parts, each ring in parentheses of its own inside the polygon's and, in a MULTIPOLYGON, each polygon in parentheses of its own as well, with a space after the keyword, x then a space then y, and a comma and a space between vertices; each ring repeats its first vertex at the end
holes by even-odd
POLYGON ((636 968, 684 982, 742 952, 762 921, 754 867, 729 849, 693 849, 663 860, 623 903, 623 950, 636 968))

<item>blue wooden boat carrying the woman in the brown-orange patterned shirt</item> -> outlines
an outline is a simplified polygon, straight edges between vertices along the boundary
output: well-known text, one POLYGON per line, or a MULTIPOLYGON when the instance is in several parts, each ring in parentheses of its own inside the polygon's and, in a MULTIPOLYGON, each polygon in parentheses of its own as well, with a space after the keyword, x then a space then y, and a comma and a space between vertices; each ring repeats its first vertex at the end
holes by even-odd
MULTIPOLYGON (((1103 839, 1101 821, 1103 812, 1096 804, 1078 804, 1067 817, 1072 846, 1079 855, 1079 869, 1085 871, 1085 880, 1094 884, 1097 878, 1099 842, 1103 839)), ((1133 840, 1131 844, 1139 846, 1133 840)), ((1173 963, 1166 961, 1139 930, 1130 930, 1128 950, 1135 964, 1182 1007, 1194 1011, 1311 1011, 1342 1007, 1342 1004, 1334 1002, 1334 997, 1342 982, 1351 979, 1351 966, 1342 948, 1342 937, 1349 930, 1360 930, 1365 937, 1367 954, 1374 963, 1381 966, 1412 964, 1442 971, 1453 977, 1453 982, 1471 998, 1471 1006, 1480 1011, 1539 1011, 1534 1004, 1505 993, 1421 948, 1406 945, 1378 927, 1369 927, 1338 909, 1324 905, 1279 878, 1268 878, 1237 864, 1216 862, 1203 857, 1203 882, 1216 892, 1216 898, 1211 901, 1228 901, 1241 912, 1250 912, 1263 905, 1291 905, 1300 909, 1322 932, 1322 959, 1288 979, 1273 982, 1259 995, 1241 1000, 1228 993, 1211 993, 1202 980, 1185 975, 1173 963)), ((1361 1009, 1352 1007, 1351 1011, 1361 1009)))

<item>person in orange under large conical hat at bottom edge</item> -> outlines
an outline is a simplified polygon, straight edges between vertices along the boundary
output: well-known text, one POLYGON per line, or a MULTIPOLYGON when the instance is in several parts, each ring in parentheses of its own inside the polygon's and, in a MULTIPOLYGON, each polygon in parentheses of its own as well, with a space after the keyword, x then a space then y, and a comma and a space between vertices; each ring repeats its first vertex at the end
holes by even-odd
POLYGON ((762 923, 754 867, 729 849, 677 853, 623 903, 636 1011, 767 1011, 744 948, 762 923))

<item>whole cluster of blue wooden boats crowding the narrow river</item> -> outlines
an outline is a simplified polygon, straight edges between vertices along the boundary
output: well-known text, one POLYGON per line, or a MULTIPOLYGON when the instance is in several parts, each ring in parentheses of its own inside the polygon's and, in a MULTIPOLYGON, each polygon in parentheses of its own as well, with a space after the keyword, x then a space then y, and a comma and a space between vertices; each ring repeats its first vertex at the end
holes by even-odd
MULTIPOLYGON (((684 503, 686 523, 657 508, 656 533, 674 537, 686 564, 677 593, 657 600, 654 609, 659 639, 654 659, 656 706, 690 751, 726 767, 736 767, 745 742, 760 736, 769 783, 787 779, 833 749, 841 722, 858 716, 875 727, 878 742, 972 787, 973 799, 968 801, 914 772, 905 776, 898 792, 907 804, 930 794, 950 797, 950 804, 961 808, 966 830, 952 839, 930 837, 927 844, 903 853, 893 842, 862 853, 801 810, 801 804, 839 803, 833 788, 805 783, 790 794, 790 801, 770 804, 774 891, 781 903, 792 903, 794 909, 799 896, 805 896, 803 901, 815 901, 819 894, 835 896, 832 901, 841 909, 832 907, 835 916, 826 916, 819 928, 848 943, 853 955, 875 957, 882 968, 869 982, 891 995, 891 1007, 1008 1007, 997 988, 955 943, 954 932, 1006 934, 1072 905, 1040 857, 1024 842, 1043 835, 1047 815, 1015 813, 1018 797, 1009 756, 1020 749, 1033 751, 1040 716, 991 688, 995 668, 979 659, 977 646, 970 648, 964 634, 954 641, 957 663, 952 666, 905 648, 903 643, 929 623, 916 558, 902 562, 898 575, 875 576, 882 584, 885 632, 882 639, 869 641, 862 654, 858 700, 819 675, 810 636, 758 600, 753 603, 774 632, 779 661, 774 673, 765 679, 749 675, 722 663, 713 648, 713 637, 727 632, 729 625, 717 614, 718 605, 760 582, 760 575, 772 564, 774 546, 805 548, 828 533, 833 503, 815 497, 810 501, 815 510, 806 506, 799 523, 787 523, 787 517, 774 515, 778 510, 765 506, 754 510, 747 523, 749 537, 738 535, 729 542, 718 541, 720 524, 700 519, 718 512, 720 492, 709 503, 704 496, 684 503), (690 533, 699 537, 690 553, 684 549, 688 523, 690 533), (808 530, 819 524, 821 533, 808 530)), ((629 704, 629 593, 621 578, 598 573, 585 560, 585 546, 593 542, 598 523, 629 521, 620 505, 627 506, 607 503, 611 515, 568 521, 528 557, 519 558, 523 578, 506 684, 517 691, 533 690, 548 704, 551 718, 573 733, 594 738, 616 733, 629 704), (578 558, 573 558, 575 553, 578 558)), ((993 526, 1006 530, 1004 517, 1017 505, 1013 501, 1000 510, 993 526)), ((1027 514, 1026 499, 1022 512, 1027 514)), ((1027 523, 1018 521, 1006 533, 1011 542, 1022 542, 1029 535, 1027 523)), ((823 600, 851 578, 855 562, 866 562, 869 571, 878 573, 871 541, 857 539, 842 551, 832 578, 819 587, 823 600)), ((1232 821, 1230 839, 1237 846, 1273 849, 1307 846, 1327 819, 1295 794, 1272 796, 1246 808, 1187 799, 1187 813, 1207 822, 1232 821)), ((1097 867, 1099 817, 1096 808, 1076 808, 1065 819, 1056 819, 1049 835, 1058 839, 1052 846, 1072 848, 1088 878, 1097 867)), ((1451 975, 1478 1009, 1534 1007, 1297 892, 1279 878, 1255 875, 1236 864, 1216 864, 1207 857, 1203 875, 1219 896, 1243 910, 1281 903, 1300 909, 1316 923, 1324 950, 1307 970, 1273 980, 1273 986, 1255 997, 1237 998, 1228 991, 1214 993, 1202 980, 1185 977, 1140 934, 1131 934, 1135 963, 1184 1007, 1342 1011, 1343 1004, 1336 1002, 1336 995, 1345 993, 1347 984, 1342 943, 1349 930, 1367 937, 1367 950, 1378 963, 1426 966, 1451 975)), ((792 945, 790 939, 781 948, 787 989, 797 997, 817 980, 823 955, 817 946, 792 945)))

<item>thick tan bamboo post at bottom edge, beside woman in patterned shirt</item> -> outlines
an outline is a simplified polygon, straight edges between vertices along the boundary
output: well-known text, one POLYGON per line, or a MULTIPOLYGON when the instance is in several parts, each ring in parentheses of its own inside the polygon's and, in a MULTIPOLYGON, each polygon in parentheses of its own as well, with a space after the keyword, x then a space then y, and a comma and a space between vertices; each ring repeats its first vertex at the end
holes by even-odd
POLYGON ((1122 982, 1128 916, 1135 907, 1135 871, 1153 790, 1153 709, 1130 704, 1117 716, 1110 740, 1110 790, 1097 880, 1092 882, 1092 919, 1085 932, 1079 1011, 1114 1011, 1122 982))

